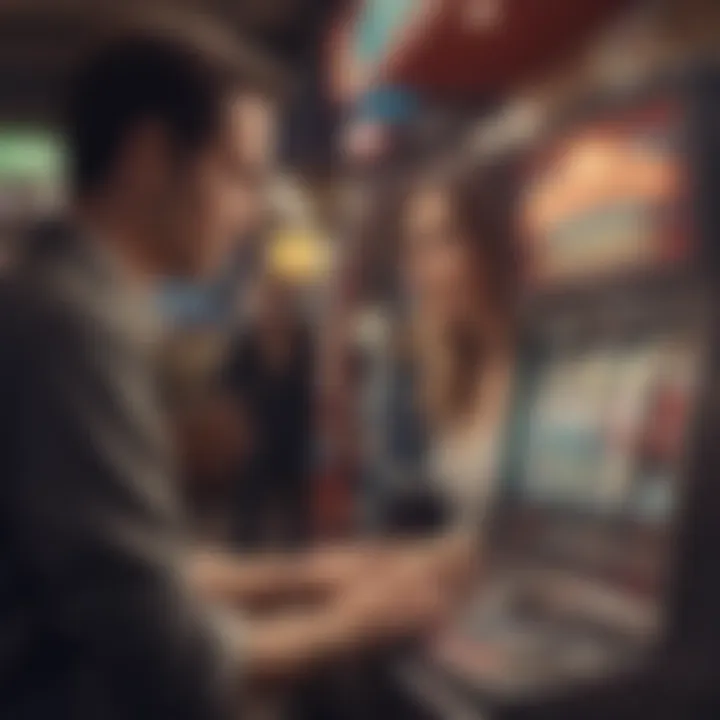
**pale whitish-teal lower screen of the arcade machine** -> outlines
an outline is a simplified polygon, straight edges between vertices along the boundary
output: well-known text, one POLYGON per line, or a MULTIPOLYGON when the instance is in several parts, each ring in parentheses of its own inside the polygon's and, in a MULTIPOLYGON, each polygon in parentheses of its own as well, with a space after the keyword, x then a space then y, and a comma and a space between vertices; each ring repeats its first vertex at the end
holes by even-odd
POLYGON ((523 497, 581 513, 667 522, 696 365, 692 345, 670 338, 547 363, 528 407, 523 497))

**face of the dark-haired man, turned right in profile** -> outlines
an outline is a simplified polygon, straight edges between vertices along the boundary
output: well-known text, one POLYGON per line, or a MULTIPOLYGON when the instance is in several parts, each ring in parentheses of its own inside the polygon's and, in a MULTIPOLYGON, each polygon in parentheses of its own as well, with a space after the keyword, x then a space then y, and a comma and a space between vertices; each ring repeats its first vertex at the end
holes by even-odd
POLYGON ((167 240, 176 274, 217 272, 238 241, 258 228, 274 145, 268 101, 244 95, 228 105, 218 138, 171 183, 167 240))

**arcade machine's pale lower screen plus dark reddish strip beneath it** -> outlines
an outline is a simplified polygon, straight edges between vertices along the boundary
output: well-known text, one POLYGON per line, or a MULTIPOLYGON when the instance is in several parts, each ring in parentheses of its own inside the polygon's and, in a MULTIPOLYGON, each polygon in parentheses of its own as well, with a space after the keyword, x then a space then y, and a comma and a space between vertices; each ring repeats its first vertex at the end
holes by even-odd
POLYGON ((683 332, 552 350, 530 372, 503 532, 534 556, 643 596, 666 587, 699 343, 683 332))

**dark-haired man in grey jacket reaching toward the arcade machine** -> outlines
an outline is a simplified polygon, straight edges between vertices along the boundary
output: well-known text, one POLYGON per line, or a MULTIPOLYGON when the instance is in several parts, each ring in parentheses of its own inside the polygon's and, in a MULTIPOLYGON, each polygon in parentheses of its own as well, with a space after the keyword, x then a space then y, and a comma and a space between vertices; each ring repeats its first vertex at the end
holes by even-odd
POLYGON ((353 588, 367 553, 241 566, 183 545, 148 298, 212 271, 250 219, 272 128, 254 77, 219 41, 134 31, 75 79, 68 220, 0 289, 3 718, 228 718, 247 682, 437 609, 444 548, 353 588), (276 620, 227 609, 321 590, 320 610, 276 620))

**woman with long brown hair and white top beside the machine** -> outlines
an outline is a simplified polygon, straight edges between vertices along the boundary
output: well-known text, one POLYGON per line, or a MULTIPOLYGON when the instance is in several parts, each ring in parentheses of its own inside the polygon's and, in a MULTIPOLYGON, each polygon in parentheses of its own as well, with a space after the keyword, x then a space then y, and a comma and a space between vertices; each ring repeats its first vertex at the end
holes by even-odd
POLYGON ((518 278, 506 175, 428 174, 402 214, 429 470, 453 519, 471 525, 491 499, 511 379, 518 278))

